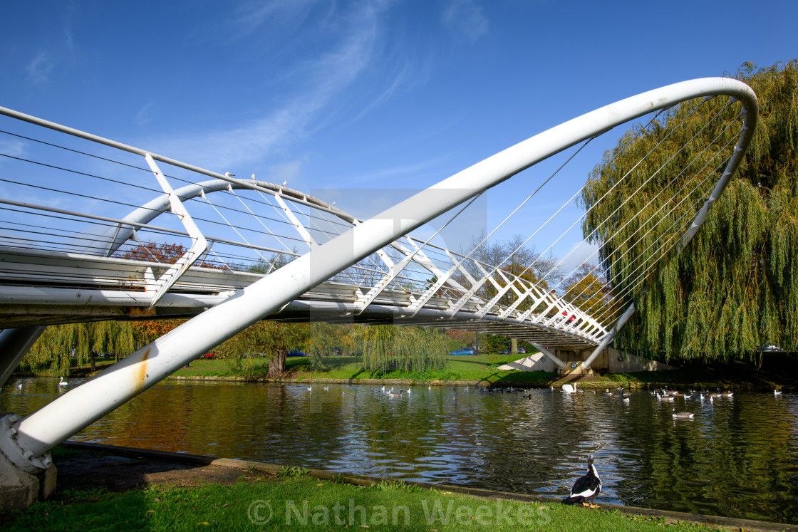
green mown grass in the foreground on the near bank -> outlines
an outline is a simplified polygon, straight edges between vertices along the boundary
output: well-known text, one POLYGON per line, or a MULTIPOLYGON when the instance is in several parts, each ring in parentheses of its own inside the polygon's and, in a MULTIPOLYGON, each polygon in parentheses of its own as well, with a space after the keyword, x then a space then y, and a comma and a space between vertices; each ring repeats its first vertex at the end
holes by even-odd
MULTIPOLYGON (((401 482, 372 487, 291 468, 233 485, 68 491, 0 517, 2 530, 662 530, 662 518, 480 499, 401 482)), ((668 530, 717 530, 667 523, 668 530)))

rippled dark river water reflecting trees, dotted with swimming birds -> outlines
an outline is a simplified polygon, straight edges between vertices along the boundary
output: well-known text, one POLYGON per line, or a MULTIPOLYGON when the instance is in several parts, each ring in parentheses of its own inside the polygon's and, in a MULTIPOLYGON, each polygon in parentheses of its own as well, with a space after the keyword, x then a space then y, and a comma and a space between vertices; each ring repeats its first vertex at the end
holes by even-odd
MULTIPOLYGON (((11 380, 0 412, 24 416, 79 382, 11 380)), ((73 439, 553 497, 567 495, 592 453, 596 502, 798 522, 798 396, 674 404, 646 391, 624 402, 601 392, 410 389, 392 398, 366 384, 170 380, 73 439), (674 420, 672 408, 695 417, 674 420)))

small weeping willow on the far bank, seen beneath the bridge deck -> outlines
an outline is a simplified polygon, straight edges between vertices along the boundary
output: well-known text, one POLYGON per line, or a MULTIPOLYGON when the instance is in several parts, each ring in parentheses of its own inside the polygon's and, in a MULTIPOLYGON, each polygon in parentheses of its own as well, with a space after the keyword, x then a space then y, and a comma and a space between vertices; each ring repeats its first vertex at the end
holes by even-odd
POLYGON ((446 363, 446 335, 438 329, 362 326, 355 328, 354 342, 363 353, 363 367, 370 372, 423 372, 443 369, 446 363))

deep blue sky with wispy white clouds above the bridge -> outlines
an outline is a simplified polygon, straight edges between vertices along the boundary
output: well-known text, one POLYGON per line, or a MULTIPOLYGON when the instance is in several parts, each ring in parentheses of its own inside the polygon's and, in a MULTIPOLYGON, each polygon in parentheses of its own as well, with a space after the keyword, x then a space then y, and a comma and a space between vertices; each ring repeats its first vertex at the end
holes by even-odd
POLYGON ((796 20, 794 0, 9 2, 0 105, 365 217, 604 104, 798 57, 796 20))

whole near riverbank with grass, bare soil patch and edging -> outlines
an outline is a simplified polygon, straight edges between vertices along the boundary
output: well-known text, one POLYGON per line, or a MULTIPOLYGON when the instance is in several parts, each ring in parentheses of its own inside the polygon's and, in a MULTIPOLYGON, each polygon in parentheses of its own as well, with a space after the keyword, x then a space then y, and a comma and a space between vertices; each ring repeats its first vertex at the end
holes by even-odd
MULTIPOLYGON (((798 526, 67 442, 49 502, 3 530, 790 530, 798 526)), ((600 496, 599 500, 600 501, 600 496)))

